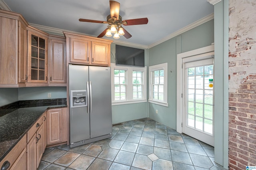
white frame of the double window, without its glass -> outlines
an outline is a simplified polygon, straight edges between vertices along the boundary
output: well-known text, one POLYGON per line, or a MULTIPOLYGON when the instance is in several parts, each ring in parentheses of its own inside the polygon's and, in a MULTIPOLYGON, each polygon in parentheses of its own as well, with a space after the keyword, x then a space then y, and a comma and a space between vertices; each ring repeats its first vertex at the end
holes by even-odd
POLYGON ((111 97, 112 105, 147 102, 147 67, 134 67, 110 64, 111 67, 111 97), (115 101, 114 70, 126 70, 126 100, 115 101), (133 99, 132 71, 142 71, 142 99, 133 99))

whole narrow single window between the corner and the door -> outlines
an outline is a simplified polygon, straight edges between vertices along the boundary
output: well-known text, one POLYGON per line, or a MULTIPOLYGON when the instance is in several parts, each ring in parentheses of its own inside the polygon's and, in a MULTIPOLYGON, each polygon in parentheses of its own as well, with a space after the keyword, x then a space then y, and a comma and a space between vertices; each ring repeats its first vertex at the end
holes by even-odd
POLYGON ((167 103, 167 63, 149 67, 149 102, 168 106, 167 103))

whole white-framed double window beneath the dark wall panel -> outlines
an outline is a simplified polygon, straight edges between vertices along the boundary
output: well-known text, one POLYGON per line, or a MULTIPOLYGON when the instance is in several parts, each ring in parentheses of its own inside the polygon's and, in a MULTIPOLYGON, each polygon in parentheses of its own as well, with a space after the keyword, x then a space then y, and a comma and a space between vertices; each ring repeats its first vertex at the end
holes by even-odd
POLYGON ((112 105, 147 101, 146 67, 111 63, 112 105))

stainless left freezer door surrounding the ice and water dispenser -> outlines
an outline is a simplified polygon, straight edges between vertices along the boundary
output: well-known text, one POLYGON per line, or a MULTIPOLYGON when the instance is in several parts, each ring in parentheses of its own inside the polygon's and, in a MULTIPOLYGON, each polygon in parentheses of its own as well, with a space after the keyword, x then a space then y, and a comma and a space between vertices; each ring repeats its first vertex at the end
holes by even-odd
MULTIPOLYGON (((88 66, 69 65, 69 93, 72 90, 89 90, 88 66)), ((70 95, 70 94, 69 94, 70 95)), ((72 102, 72 100, 70 100, 72 102)), ((90 113, 87 107, 70 108, 70 143, 90 138, 90 113)))

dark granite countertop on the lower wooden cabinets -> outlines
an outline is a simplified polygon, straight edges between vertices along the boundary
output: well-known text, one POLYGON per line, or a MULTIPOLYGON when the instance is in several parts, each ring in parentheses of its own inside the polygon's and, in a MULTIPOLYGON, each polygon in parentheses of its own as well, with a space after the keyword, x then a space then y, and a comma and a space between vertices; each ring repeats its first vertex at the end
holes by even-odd
POLYGON ((28 132, 40 116, 49 108, 66 107, 67 105, 51 105, 40 107, 24 107, 16 109, 0 117, 0 161, 12 150, 20 139, 28 132))

